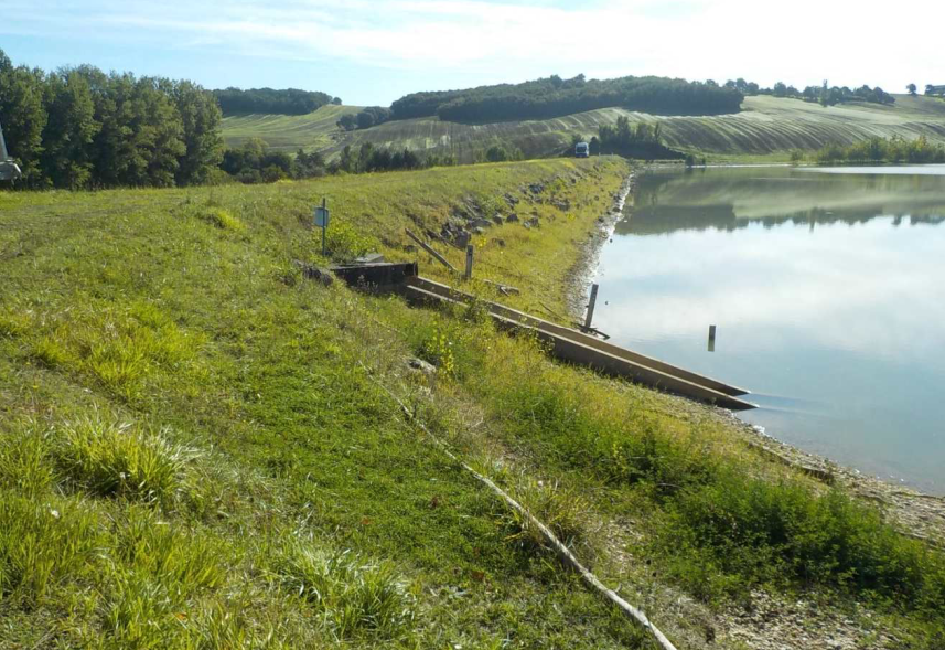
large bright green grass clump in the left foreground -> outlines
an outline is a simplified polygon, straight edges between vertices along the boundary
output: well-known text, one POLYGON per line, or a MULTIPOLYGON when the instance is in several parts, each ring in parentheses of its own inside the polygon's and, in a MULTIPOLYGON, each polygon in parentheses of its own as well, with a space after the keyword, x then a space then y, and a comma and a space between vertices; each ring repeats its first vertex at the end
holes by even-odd
POLYGON ((58 431, 53 456, 62 475, 99 497, 169 504, 194 457, 161 434, 128 424, 86 417, 58 431))

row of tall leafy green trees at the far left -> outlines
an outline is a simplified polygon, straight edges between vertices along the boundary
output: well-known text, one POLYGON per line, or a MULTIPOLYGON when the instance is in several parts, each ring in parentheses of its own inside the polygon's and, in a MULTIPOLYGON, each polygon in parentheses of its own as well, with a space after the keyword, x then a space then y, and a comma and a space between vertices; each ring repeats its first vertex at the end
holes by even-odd
POLYGON ((90 65, 45 73, 0 51, 0 116, 32 189, 202 183, 223 156, 216 98, 191 82, 90 65))

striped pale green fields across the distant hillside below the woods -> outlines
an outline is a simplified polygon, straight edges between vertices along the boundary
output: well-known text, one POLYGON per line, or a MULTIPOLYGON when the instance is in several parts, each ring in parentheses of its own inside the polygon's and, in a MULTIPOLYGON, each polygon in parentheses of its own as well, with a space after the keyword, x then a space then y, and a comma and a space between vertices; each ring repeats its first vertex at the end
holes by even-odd
POLYGON ((259 136, 276 148, 319 148, 329 154, 345 145, 357 147, 369 141, 379 147, 452 153, 464 162, 496 142, 513 143, 528 158, 556 156, 567 148, 572 135, 590 138, 598 127, 615 124, 622 115, 632 121, 658 120, 669 147, 710 160, 786 160, 792 149, 813 150, 829 142, 849 145, 873 136, 925 135, 945 142, 945 102, 937 98, 896 95, 893 106, 846 104, 824 108, 798 99, 758 96, 745 98, 742 106, 738 115, 712 117, 649 116, 606 108, 548 120, 486 125, 423 118, 351 134, 334 127, 335 116, 341 114, 337 107, 331 107, 331 119, 320 117, 326 107, 311 116, 227 118, 224 135, 230 143, 259 136))

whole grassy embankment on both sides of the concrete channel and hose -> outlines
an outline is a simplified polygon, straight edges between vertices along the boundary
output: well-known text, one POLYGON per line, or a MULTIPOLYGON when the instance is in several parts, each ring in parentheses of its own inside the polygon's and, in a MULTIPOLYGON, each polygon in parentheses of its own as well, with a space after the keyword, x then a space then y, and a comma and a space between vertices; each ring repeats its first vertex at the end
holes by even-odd
POLYGON ((715 631, 676 589, 723 606, 759 586, 856 599, 876 612, 865 626, 934 647, 943 558, 872 509, 699 407, 551 363, 475 309, 410 310, 291 263, 318 259, 323 194, 339 255, 391 257, 408 257, 405 226, 512 194, 543 225, 487 231, 477 273, 563 310, 574 242, 625 171, 0 195, 0 646, 646 647, 383 385, 680 647, 715 631))

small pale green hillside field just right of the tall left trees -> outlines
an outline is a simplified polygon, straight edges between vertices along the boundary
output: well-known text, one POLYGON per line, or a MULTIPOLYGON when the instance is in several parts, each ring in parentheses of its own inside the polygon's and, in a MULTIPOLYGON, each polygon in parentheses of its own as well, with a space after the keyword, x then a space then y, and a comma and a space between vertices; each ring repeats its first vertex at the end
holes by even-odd
POLYGON ((326 149, 343 131, 336 122, 357 106, 322 106, 308 115, 239 115, 223 120, 223 138, 228 147, 239 147, 249 138, 262 138, 271 149, 294 153, 299 149, 326 149))

